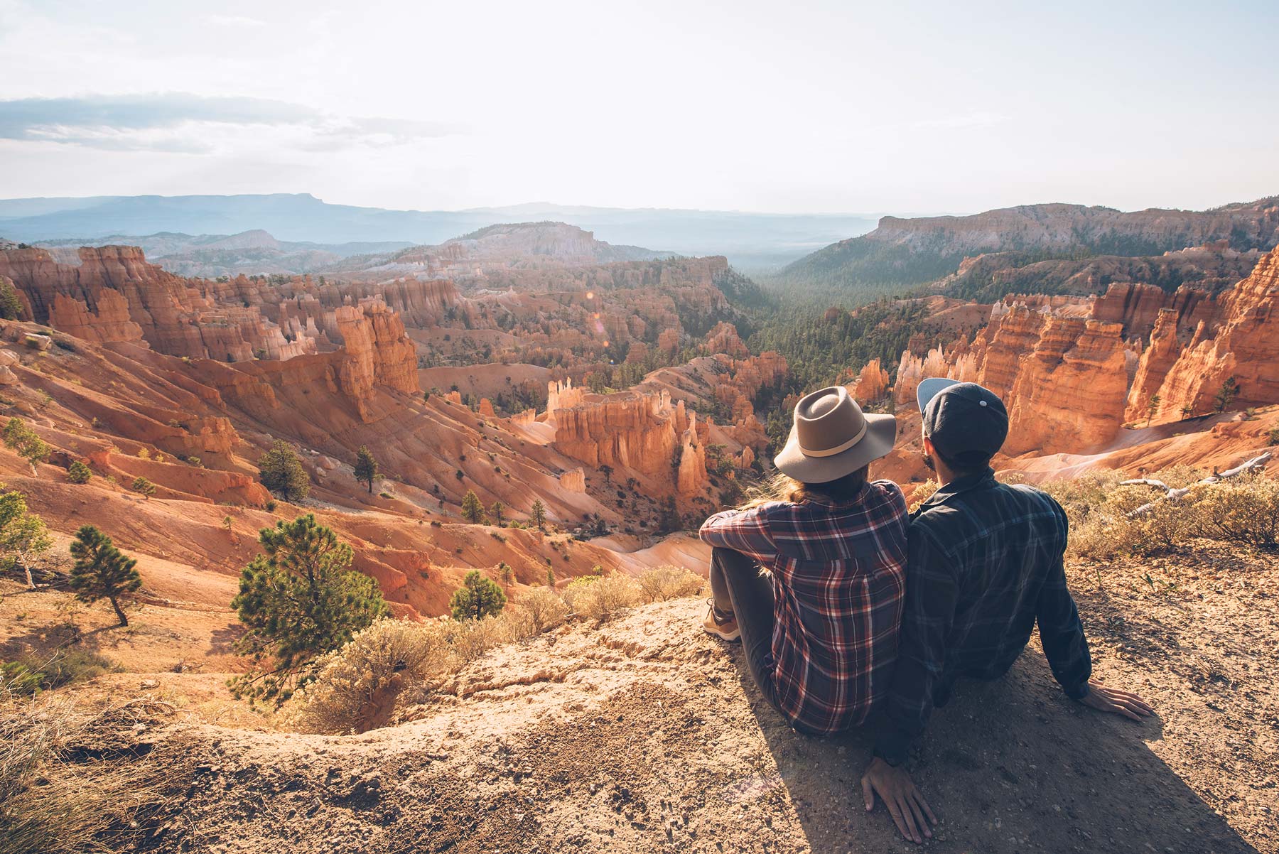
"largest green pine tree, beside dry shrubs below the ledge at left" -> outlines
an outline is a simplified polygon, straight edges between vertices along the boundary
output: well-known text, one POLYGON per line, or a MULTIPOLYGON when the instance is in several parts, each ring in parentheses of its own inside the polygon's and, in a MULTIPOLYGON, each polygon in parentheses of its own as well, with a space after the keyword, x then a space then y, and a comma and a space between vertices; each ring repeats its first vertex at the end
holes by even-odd
POLYGON ((248 633, 237 652, 255 670, 231 681, 237 697, 286 701, 313 678, 316 657, 336 649, 381 616, 377 583, 349 569, 350 546, 312 514, 258 532, 262 552, 240 573, 231 600, 248 633), (263 662, 270 661, 263 667, 263 662))

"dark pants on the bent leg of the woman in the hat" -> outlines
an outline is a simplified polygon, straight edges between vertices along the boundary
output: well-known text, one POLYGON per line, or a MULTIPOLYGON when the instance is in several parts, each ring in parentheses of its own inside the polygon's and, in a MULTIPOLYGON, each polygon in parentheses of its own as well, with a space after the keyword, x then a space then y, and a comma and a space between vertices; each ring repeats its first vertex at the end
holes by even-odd
POLYGON ((711 596, 715 609, 733 614, 742 633, 742 652, 751 678, 769 706, 790 720, 778 707, 773 684, 773 582, 760 574, 760 565, 732 548, 711 551, 711 596))

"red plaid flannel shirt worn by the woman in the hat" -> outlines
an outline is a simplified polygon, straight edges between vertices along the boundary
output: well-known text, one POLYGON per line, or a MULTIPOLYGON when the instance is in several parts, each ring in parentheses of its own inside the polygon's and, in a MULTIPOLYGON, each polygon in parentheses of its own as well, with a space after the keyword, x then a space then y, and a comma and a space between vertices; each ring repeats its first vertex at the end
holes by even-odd
POLYGON ((851 501, 776 501, 702 524, 711 546, 771 573, 773 679, 793 722, 817 734, 858 726, 885 697, 906 591, 906 496, 891 481, 851 501))

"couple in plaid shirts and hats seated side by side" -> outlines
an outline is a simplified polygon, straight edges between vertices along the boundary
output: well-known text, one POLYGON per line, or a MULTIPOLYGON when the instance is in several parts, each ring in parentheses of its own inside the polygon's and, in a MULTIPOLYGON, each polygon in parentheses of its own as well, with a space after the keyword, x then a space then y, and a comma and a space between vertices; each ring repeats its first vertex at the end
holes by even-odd
POLYGON ((1003 401, 972 382, 925 380, 926 464, 941 483, 908 515, 891 481, 867 467, 893 450, 897 419, 862 413, 843 387, 796 405, 778 454, 776 500, 715 514, 706 630, 741 639, 764 698, 799 733, 829 735, 874 712, 862 777, 907 839, 936 818, 903 762, 961 676, 1008 672, 1039 623, 1067 695, 1133 720, 1136 694, 1090 679, 1091 660, 1065 583, 1065 513, 1028 486, 995 479, 1008 436, 1003 401), (761 573, 761 568, 767 570, 761 573))

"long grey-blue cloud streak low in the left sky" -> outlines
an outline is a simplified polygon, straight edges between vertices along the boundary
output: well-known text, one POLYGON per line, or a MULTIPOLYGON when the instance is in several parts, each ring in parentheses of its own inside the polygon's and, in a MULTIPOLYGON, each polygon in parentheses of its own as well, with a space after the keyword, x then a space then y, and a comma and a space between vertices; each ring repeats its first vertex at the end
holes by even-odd
POLYGON ((0 139, 109 151, 210 151, 191 133, 192 125, 220 125, 223 132, 283 128, 297 137, 298 147, 313 150, 407 144, 459 133, 436 121, 343 116, 289 101, 187 92, 0 101, 0 139))

